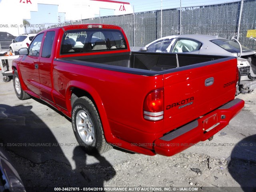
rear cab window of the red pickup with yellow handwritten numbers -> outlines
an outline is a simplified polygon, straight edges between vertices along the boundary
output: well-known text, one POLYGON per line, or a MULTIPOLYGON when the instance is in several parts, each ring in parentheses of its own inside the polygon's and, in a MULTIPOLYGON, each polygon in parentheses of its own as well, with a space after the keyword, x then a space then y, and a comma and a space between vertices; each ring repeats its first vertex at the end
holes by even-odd
POLYGON ((79 29, 64 32, 60 54, 127 49, 121 31, 110 29, 79 29))

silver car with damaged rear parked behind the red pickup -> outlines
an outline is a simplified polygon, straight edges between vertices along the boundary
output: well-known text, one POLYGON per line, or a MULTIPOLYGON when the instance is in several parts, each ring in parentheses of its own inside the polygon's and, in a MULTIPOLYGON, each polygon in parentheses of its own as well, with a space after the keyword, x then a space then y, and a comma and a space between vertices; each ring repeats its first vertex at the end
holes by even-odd
POLYGON ((157 39, 140 51, 235 56, 240 73, 236 94, 250 93, 256 89, 256 52, 234 40, 211 35, 172 35, 157 39))

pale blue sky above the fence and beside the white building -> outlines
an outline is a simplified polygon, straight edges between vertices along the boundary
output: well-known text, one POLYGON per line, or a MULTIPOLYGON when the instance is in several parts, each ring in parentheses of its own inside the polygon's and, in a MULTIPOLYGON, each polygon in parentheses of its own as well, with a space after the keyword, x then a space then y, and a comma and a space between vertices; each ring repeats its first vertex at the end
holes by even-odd
MULTIPOLYGON (((129 2, 134 6, 134 12, 146 12, 152 10, 161 9, 161 0, 120 0, 124 2, 129 2)), ((224 4, 228 2, 236 2, 239 0, 162 0, 162 9, 179 8, 180 2, 181 6, 204 6, 211 4, 224 4)), ((110 16, 114 14, 114 10, 100 9, 100 16, 110 16)), ((38 4, 38 11, 31 12, 31 19, 28 20, 30 24, 58 24, 58 16, 60 16, 60 21, 65 21, 65 14, 58 13, 57 5, 45 5, 38 4)), ((95 15, 98 17, 99 15, 95 15)))

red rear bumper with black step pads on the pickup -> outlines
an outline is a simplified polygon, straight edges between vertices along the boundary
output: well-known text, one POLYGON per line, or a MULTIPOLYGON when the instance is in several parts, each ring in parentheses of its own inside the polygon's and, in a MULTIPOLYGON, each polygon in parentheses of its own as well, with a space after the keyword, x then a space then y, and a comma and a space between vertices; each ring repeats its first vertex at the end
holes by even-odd
POLYGON ((172 156, 212 137, 228 125, 244 107, 244 101, 234 99, 209 114, 194 120, 155 140, 156 154, 172 156))

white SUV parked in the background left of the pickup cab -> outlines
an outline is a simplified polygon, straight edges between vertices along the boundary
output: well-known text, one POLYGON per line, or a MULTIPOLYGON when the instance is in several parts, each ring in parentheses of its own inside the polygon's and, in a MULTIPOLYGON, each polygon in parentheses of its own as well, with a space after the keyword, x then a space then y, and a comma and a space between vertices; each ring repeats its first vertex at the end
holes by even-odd
POLYGON ((15 40, 12 40, 12 44, 10 44, 10 51, 12 53, 18 52, 21 48, 28 48, 32 39, 36 36, 36 34, 21 34, 16 37, 15 40))

